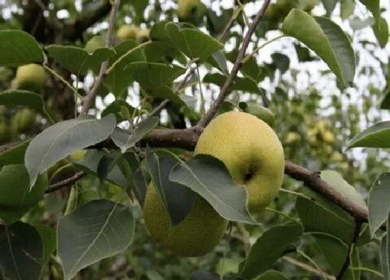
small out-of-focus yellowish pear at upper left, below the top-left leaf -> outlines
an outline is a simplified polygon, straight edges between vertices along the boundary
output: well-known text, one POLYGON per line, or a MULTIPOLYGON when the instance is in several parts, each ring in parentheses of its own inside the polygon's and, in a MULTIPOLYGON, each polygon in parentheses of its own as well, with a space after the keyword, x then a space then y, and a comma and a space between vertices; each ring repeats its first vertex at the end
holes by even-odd
POLYGON ((45 81, 45 69, 35 63, 17 67, 15 85, 19 90, 38 91, 45 81))

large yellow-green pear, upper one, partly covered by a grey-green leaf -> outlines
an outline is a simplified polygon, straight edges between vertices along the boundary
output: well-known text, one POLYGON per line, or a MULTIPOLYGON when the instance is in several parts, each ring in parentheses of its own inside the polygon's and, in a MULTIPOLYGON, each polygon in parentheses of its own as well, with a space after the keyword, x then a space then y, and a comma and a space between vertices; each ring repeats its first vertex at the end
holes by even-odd
POLYGON ((261 213, 283 183, 281 142, 266 122, 249 113, 218 115, 199 137, 195 154, 209 154, 224 162, 233 180, 246 186, 252 214, 261 213))

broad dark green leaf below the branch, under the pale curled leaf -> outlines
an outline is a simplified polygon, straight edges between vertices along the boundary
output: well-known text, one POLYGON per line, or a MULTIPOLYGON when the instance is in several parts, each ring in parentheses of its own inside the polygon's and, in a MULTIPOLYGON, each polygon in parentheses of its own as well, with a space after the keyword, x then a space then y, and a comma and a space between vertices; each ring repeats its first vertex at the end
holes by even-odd
POLYGON ((304 194, 306 197, 297 198, 295 208, 305 231, 336 236, 349 244, 354 233, 354 219, 312 190, 304 188, 304 194))

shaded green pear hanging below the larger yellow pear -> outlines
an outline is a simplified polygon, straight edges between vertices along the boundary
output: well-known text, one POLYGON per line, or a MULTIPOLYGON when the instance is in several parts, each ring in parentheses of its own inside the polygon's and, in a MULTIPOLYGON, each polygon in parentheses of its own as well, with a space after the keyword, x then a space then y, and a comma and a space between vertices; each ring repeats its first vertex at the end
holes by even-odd
POLYGON ((143 218, 150 236, 179 256, 203 256, 212 251, 224 236, 228 222, 205 199, 197 196, 185 220, 173 226, 153 183, 146 191, 143 218))

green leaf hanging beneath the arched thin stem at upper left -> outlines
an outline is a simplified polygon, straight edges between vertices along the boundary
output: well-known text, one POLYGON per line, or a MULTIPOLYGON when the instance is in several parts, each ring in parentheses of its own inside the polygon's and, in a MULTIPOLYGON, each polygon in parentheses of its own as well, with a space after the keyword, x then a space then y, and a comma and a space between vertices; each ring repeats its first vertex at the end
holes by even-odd
POLYGON ((104 79, 104 85, 118 97, 134 82, 134 79, 125 70, 125 66, 136 61, 145 61, 146 58, 137 42, 133 40, 120 42, 115 47, 115 51, 116 55, 109 61, 109 72, 104 79))

